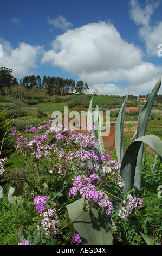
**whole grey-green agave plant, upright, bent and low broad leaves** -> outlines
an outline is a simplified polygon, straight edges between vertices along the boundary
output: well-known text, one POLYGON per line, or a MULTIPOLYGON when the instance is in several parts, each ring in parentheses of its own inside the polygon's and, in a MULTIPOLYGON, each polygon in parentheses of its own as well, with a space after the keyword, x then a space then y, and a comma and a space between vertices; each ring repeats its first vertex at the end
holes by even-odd
MULTIPOLYGON (((127 193, 128 191, 134 191, 134 194, 139 193, 140 184, 141 184, 141 164, 142 164, 142 156, 144 143, 147 143, 155 150, 157 155, 162 160, 162 141, 159 137, 155 135, 145 135, 146 126, 148 117, 150 115, 155 96, 161 85, 161 75, 157 84, 155 84, 154 89, 152 90, 150 96, 148 97, 144 107, 141 109, 139 118, 138 118, 138 126, 137 130, 134 133, 131 144, 129 144, 125 153, 123 152, 123 127, 124 127, 124 114, 125 107, 128 99, 128 93, 126 95, 125 101, 121 106, 118 119, 116 121, 116 132, 115 132, 115 144, 116 144, 116 155, 118 158, 118 162, 121 163, 121 178, 125 182, 124 191, 127 193)), ((95 154, 99 154, 100 149, 103 148, 103 140, 101 136, 100 130, 100 114, 98 111, 98 106, 95 108, 94 115, 92 115, 92 100, 89 104, 88 116, 87 116, 87 125, 97 125, 98 126, 98 139, 99 145, 94 148, 95 154)), ((95 131, 89 130, 92 135, 96 135, 95 131)), ((89 161, 89 164, 94 164, 89 161)), ((100 167, 100 174, 102 176, 102 166, 100 167)), ((79 231, 81 236, 85 238, 83 244, 86 245, 112 245, 112 233, 111 233, 111 220, 104 220, 103 216, 100 215, 99 212, 91 207, 84 214, 81 214, 83 207, 83 199, 79 199, 76 202, 67 206, 69 218, 74 220, 76 216, 76 222, 73 222, 75 230, 79 231), (90 218, 93 216, 93 218, 90 218), (93 221, 95 220, 95 222, 93 221), (96 227, 96 223, 98 223, 99 228, 96 227), (103 223, 105 225, 103 225, 103 223)))

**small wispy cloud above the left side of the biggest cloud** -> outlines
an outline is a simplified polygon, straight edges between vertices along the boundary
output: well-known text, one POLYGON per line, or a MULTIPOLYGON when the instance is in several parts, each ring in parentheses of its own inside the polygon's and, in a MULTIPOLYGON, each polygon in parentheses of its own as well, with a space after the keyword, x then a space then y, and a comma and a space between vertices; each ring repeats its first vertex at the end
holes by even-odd
POLYGON ((67 19, 62 15, 55 19, 50 19, 48 17, 47 22, 49 25, 52 25, 56 28, 61 28, 63 31, 67 31, 70 27, 73 27, 73 24, 70 21, 67 21, 67 19))

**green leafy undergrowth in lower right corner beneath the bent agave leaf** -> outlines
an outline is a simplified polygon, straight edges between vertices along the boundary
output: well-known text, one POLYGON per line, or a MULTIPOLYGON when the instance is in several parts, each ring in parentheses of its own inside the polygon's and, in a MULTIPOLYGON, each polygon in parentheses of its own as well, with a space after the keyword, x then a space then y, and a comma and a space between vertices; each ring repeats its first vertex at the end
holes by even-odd
POLYGON ((114 235, 124 245, 145 245, 149 240, 152 245, 161 245, 162 218, 161 198, 157 188, 162 182, 162 163, 154 157, 144 156, 140 196, 144 207, 135 211, 127 221, 115 220, 114 235), (154 163, 157 162, 156 168, 154 163), (120 235, 119 235, 120 234, 120 235), (148 240, 146 240, 148 237, 148 240))

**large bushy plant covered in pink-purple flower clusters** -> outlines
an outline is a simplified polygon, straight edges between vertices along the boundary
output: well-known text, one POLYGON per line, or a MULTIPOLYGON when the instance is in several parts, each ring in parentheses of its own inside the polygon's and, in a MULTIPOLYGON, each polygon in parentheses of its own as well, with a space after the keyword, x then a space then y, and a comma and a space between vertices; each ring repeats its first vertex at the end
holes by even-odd
MULTIPOLYGON (((25 130, 26 137, 12 131, 17 136, 16 150, 26 164, 21 173, 15 173, 14 193, 16 196, 29 193, 33 197, 32 203, 36 205, 37 218, 40 218, 40 244, 41 234, 43 242, 48 244, 55 239, 61 242, 61 236, 66 232, 73 236, 72 243, 81 243, 80 235, 74 234, 71 225, 74 220, 69 220, 64 206, 83 198, 83 212, 89 208, 86 202, 90 200, 92 205, 105 209, 107 218, 114 215, 126 218, 142 206, 142 201, 129 194, 126 197, 122 190, 124 181, 120 176, 120 163, 113 160, 111 151, 94 150, 99 144, 95 136, 89 132, 77 134, 61 125, 50 127, 51 123, 49 120, 47 125, 25 130), (24 189, 20 190, 20 187, 24 189), (123 208, 116 211, 116 205, 122 204, 123 208)), ((94 131, 94 127, 91 130, 94 131)), ((5 161, 1 160, 1 174, 5 172, 5 161)), ((27 243, 31 244, 25 237, 20 242, 21 245, 27 243)))

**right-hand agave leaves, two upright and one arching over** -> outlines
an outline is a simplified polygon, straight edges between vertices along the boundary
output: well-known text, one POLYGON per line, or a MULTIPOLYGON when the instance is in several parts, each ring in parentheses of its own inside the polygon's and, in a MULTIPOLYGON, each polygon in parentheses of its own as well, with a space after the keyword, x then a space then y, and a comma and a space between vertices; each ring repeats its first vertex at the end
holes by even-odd
POLYGON ((147 121, 155 101, 155 97, 157 92, 161 86, 161 76, 159 80, 155 84, 151 94, 148 96, 148 99, 142 107, 139 117, 138 117, 138 125, 137 130, 134 133, 131 144, 125 151, 123 155, 123 124, 124 124, 124 113, 126 107, 126 99, 120 109, 120 114, 118 116, 116 122, 116 153, 118 157, 118 161, 121 162, 121 172, 120 175, 122 179, 125 181, 125 192, 129 190, 134 190, 135 194, 140 192, 141 185, 141 166, 142 166, 142 157, 144 150, 144 143, 147 143, 152 147, 155 152, 157 152, 160 161, 162 157, 162 142, 159 137, 155 135, 145 135, 147 121))

